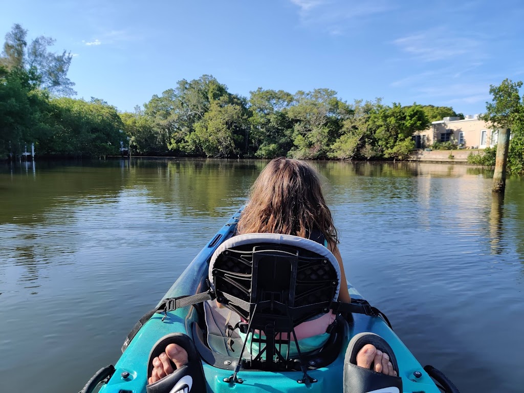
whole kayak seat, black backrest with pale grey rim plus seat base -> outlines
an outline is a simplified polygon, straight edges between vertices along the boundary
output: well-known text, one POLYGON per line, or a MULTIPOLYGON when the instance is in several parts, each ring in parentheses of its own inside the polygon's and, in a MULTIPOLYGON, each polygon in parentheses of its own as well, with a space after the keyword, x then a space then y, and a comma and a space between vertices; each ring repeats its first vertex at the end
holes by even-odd
POLYGON ((203 305, 205 328, 193 326, 197 347, 213 353, 201 353, 204 360, 239 357, 246 369, 282 370, 296 369, 308 356, 325 364, 319 353, 326 359, 339 354, 341 330, 335 328, 342 321, 331 306, 339 296, 340 267, 323 245, 290 235, 235 236, 213 254, 209 280, 216 300, 203 305), (324 335, 319 347, 303 345, 308 331, 324 335))

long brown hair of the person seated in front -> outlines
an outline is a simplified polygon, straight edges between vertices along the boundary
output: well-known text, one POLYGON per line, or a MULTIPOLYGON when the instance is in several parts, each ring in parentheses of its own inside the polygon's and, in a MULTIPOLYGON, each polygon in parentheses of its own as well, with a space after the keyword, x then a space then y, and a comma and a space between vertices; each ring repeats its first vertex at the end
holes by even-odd
POLYGON ((307 238, 313 231, 320 231, 332 244, 339 243, 316 170, 300 160, 283 157, 271 160, 251 188, 237 233, 280 233, 307 238))

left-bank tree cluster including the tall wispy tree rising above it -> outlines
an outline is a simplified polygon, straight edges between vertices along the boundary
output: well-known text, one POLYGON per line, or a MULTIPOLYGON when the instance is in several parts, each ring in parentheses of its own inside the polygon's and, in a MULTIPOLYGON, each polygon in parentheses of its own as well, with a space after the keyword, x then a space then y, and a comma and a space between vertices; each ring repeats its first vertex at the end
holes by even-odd
POLYGON ((72 99, 71 53, 50 52, 54 40, 27 41, 16 24, 0 55, 0 156, 20 155, 31 143, 41 156, 115 154, 123 122, 103 100, 72 99))

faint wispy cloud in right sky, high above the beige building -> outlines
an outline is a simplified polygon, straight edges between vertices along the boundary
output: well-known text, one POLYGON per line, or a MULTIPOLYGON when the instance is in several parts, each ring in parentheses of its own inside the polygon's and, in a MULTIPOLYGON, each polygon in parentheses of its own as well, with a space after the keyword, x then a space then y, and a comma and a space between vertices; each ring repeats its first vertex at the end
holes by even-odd
POLYGON ((469 60, 484 57, 481 40, 460 33, 455 34, 445 26, 397 38, 393 43, 401 51, 424 62, 447 60, 464 55, 467 55, 469 60))

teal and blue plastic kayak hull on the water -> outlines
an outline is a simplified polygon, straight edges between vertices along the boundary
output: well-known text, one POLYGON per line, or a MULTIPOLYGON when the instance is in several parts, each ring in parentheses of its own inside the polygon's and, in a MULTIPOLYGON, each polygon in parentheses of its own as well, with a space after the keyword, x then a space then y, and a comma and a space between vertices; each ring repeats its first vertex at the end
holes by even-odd
MULTIPOLYGON (((208 280, 208 269, 210 259, 215 250, 234 234, 236 222, 240 211, 238 211, 221 229, 216 233, 211 241, 196 255, 193 261, 182 272, 180 277, 174 282, 165 298, 178 298, 182 296, 192 296, 205 290, 205 282, 208 280)), ((361 294, 348 285, 352 299, 362 299, 361 294)), ((160 303, 159 303, 160 304, 160 303)), ((198 329, 198 323, 202 323, 202 312, 197 307, 182 307, 165 314, 155 313, 147 321, 143 321, 143 326, 134 332, 132 340, 127 340, 122 356, 118 359, 115 366, 108 366, 101 369, 83 391, 90 392, 95 385, 102 385, 101 393, 138 393, 146 392, 147 385, 147 363, 151 348, 163 336, 173 332, 187 334, 195 342, 201 344, 205 341, 202 338, 202 331, 198 329)), ((308 374, 315 379, 313 384, 297 383, 302 377, 300 370, 284 372, 269 372, 261 370, 242 369, 239 375, 242 376, 241 384, 227 383, 226 380, 232 374, 231 367, 224 365, 210 364, 205 356, 203 357, 203 370, 206 385, 210 392, 326 392, 342 391, 343 369, 345 348, 358 333, 376 333, 391 346, 394 351, 399 368, 399 376, 402 378, 404 392, 425 392, 439 393, 439 387, 433 378, 438 379, 441 375, 438 370, 427 367, 429 374, 420 365, 417 359, 411 354, 408 348, 402 343, 399 337, 389 327, 386 320, 378 315, 353 314, 352 320, 340 326, 339 342, 337 353, 330 358, 329 364, 322 364, 315 367, 313 361, 309 363, 308 374), (206 361, 207 360, 207 361, 206 361), (435 370, 435 372, 433 372, 435 370), (436 373, 436 374, 435 374, 436 373), (430 376, 430 374, 432 374, 430 376), (435 377, 436 375, 436 377, 435 377), (433 376, 433 378, 432 378, 433 376)), ((198 345, 197 345, 198 346, 198 345)), ((124 348, 123 347, 123 348, 124 348)), ((209 356, 208 356, 209 357, 209 356)), ((216 359, 215 359, 216 360, 216 359)), ((229 362, 231 363, 231 362, 229 362)), ((441 385, 446 385, 446 381, 439 380, 441 385)), ((451 384, 452 385, 452 384, 451 384)), ((455 390, 445 390, 454 392, 455 390)))

